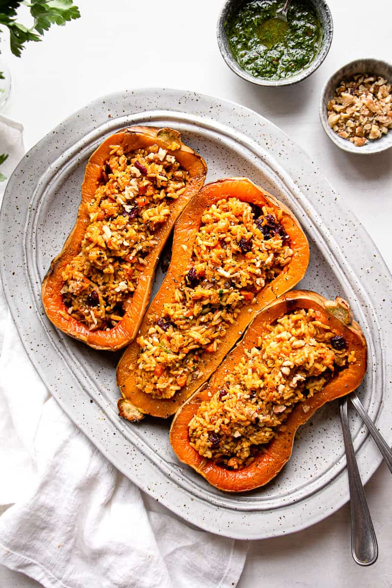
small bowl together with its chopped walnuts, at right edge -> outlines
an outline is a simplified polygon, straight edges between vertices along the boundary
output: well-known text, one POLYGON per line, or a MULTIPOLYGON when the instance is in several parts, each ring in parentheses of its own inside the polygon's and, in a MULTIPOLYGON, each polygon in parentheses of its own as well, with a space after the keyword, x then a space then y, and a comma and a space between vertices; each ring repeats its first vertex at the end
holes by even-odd
POLYGON ((320 97, 324 131, 350 153, 380 153, 392 147, 392 66, 378 59, 344 65, 320 97))

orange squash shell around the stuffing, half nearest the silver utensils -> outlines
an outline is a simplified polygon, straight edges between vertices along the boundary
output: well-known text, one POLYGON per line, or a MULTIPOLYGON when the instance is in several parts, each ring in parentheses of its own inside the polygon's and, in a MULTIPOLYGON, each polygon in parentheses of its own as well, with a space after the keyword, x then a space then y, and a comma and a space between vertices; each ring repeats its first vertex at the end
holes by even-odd
POLYGON ((315 292, 293 290, 282 296, 281 299, 272 302, 260 312, 252 325, 250 325, 242 341, 237 343, 207 385, 200 387, 177 411, 170 427, 170 443, 180 461, 195 469, 211 485, 225 492, 253 490, 264 486, 280 472, 292 455, 294 435, 298 427, 306 423, 314 412, 326 402, 355 390, 360 385, 366 372, 367 346, 360 326, 355 321, 348 324, 341 322, 331 314, 328 303, 331 304, 329 300, 315 292), (282 430, 277 432, 267 446, 267 452, 260 452, 256 455, 249 466, 240 470, 229 470, 217 465, 211 459, 200 456, 190 446, 188 436, 188 424, 197 412, 200 403, 203 400, 209 400, 209 393, 214 393, 220 386, 220 382, 225 379, 225 374, 230 373, 230 370, 242 357, 244 349, 250 349, 254 344, 257 345, 257 338, 263 336, 266 325, 272 323, 286 312, 301 308, 319 310, 323 315, 324 322, 327 322, 337 335, 341 335, 346 339, 347 349, 349 351, 355 350, 356 363, 350 364, 349 367, 341 370, 324 386, 323 390, 306 400, 306 405, 309 406, 307 413, 304 413, 303 405, 298 404, 287 417, 282 430))

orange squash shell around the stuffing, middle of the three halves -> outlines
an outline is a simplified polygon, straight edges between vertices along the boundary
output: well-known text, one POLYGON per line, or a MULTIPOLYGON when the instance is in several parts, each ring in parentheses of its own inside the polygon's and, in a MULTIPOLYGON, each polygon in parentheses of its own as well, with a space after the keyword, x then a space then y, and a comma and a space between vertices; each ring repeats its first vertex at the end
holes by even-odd
POLYGON ((272 282, 267 284, 257 295, 257 303, 247 306, 244 312, 240 313, 237 322, 227 327, 225 338, 219 344, 215 353, 204 352, 200 359, 200 369, 203 376, 189 386, 183 387, 180 392, 170 399, 154 399, 152 395, 146 394, 134 384, 133 372, 136 369, 136 360, 139 356, 139 345, 136 340, 129 345, 120 359, 117 368, 117 382, 120 387, 122 398, 118 402, 119 414, 128 420, 140 420, 144 414, 167 418, 173 415, 179 406, 192 395, 216 370, 223 358, 229 353, 233 345, 240 338, 253 317, 272 300, 281 296, 303 278, 309 263, 309 245, 299 222, 292 212, 279 202, 274 196, 256 186, 247 178, 226 178, 205 185, 199 194, 193 198, 185 211, 176 222, 173 239, 173 255, 169 270, 163 280, 158 293, 150 305, 148 312, 143 318, 140 326, 140 333, 148 332, 151 322, 156 314, 160 314, 163 303, 171 298, 176 288, 179 275, 189 266, 192 256, 193 242, 199 230, 200 218, 207 205, 229 196, 237 196, 242 201, 254 203, 259 206, 267 204, 275 209, 283 211, 281 223, 290 236, 291 248, 294 251, 292 261, 284 271, 272 282), (183 249, 186 246, 186 251, 183 249), (251 308, 252 312, 248 312, 251 308), (139 412, 138 412, 139 411, 139 412), (130 417, 132 415, 132 417, 130 417))

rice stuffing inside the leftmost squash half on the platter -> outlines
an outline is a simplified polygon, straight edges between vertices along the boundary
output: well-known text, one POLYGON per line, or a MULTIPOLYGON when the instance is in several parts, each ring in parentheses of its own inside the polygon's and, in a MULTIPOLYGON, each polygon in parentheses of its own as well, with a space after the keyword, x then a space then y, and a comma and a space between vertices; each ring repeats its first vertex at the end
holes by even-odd
POLYGON ((115 327, 132 302, 156 230, 185 192, 187 172, 158 145, 124 153, 112 145, 81 250, 62 272, 68 314, 89 330, 115 327))

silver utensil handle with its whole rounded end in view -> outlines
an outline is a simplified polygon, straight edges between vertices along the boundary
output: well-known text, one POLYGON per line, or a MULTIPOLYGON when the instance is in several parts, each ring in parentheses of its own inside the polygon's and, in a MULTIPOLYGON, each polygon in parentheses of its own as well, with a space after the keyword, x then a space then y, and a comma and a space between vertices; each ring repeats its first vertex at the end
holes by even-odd
POLYGON ((376 533, 371 522, 366 496, 358 471, 347 415, 347 397, 340 399, 340 420, 346 449, 351 510, 351 553, 360 566, 371 566, 378 557, 376 533))

